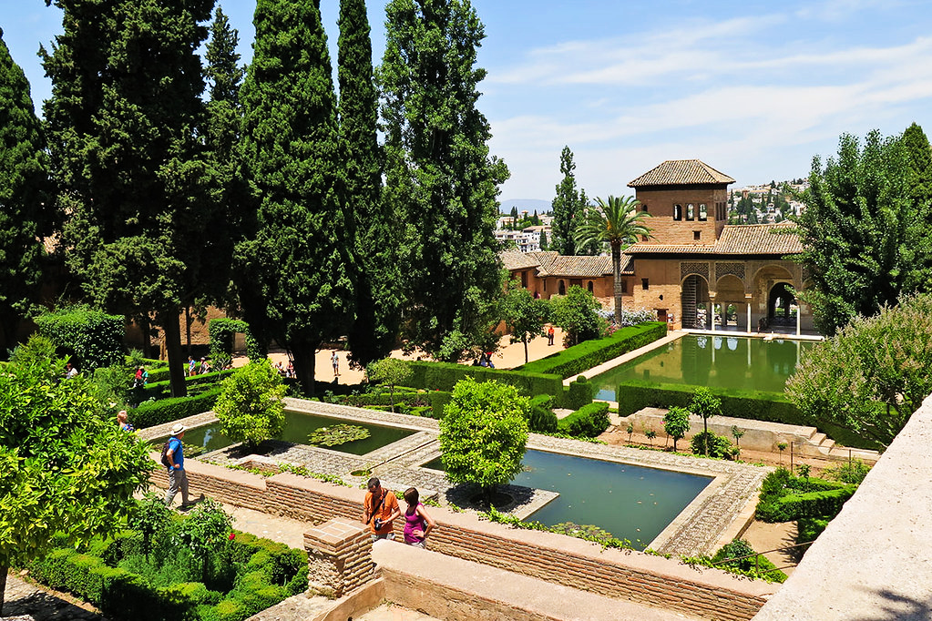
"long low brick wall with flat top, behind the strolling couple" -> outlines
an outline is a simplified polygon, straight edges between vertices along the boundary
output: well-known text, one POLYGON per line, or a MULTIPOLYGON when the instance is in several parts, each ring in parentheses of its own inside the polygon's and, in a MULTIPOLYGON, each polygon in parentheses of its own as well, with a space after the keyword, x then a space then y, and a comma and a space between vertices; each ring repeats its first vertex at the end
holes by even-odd
MULTIPOLYGON (((158 455, 154 454, 154 458, 158 455)), ((192 493, 205 493, 231 505, 248 506, 272 515, 320 524, 335 517, 362 518, 364 491, 281 473, 265 479, 222 466, 187 463, 192 493)), ((153 474, 159 487, 168 485, 165 469, 153 474)), ((555 533, 523 531, 479 520, 472 513, 432 507, 437 530, 434 551, 500 567, 548 582, 593 591, 614 599, 665 606, 706 618, 749 619, 776 586, 738 579, 678 560, 618 549, 555 533)), ((396 536, 401 535, 396 520, 396 536)))

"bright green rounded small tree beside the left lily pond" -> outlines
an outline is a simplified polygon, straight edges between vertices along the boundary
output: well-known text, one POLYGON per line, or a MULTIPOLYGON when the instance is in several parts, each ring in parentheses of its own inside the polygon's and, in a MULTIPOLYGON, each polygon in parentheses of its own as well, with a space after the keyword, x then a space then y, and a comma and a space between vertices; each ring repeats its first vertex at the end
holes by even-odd
POLYGON ((235 442, 256 446, 281 433, 285 425, 285 387, 266 358, 240 367, 226 378, 213 411, 223 433, 235 442))

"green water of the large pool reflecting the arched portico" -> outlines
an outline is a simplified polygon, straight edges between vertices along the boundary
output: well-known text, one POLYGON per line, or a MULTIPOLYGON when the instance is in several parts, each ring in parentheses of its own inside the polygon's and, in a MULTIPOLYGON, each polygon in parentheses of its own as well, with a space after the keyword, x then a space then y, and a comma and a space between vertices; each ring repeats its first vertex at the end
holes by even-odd
POLYGON ((626 380, 783 392, 809 341, 687 334, 591 378, 596 398, 615 400, 626 380))

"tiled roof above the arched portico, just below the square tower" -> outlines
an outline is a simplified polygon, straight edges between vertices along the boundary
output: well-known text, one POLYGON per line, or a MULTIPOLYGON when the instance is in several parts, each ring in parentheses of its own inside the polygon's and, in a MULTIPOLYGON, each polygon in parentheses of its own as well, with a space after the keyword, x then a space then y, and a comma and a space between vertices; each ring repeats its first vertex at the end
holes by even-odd
POLYGON ((624 250, 628 254, 798 254, 800 237, 790 230, 793 223, 726 225, 714 244, 645 244, 624 250))

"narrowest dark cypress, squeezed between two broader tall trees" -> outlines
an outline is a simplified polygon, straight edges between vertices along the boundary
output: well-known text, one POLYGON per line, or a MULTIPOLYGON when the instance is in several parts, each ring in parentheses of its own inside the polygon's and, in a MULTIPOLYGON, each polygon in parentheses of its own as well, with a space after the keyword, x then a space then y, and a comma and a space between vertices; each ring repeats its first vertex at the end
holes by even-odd
POLYGON ((398 336, 400 230, 391 202, 381 196, 378 101, 363 0, 341 0, 339 27, 337 74, 340 134, 347 147, 346 204, 360 267, 349 346, 353 359, 365 366, 387 355, 398 336))

